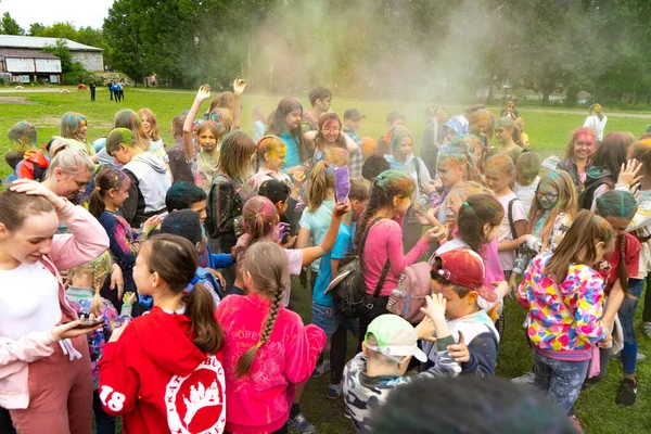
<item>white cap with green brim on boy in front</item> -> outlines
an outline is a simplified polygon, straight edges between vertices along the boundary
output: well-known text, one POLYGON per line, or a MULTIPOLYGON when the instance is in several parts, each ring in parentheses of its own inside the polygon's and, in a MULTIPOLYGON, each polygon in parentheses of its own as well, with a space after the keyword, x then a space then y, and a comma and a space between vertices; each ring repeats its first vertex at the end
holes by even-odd
POLYGON ((369 324, 365 341, 373 333, 378 345, 366 347, 391 358, 413 356, 419 361, 427 361, 427 356, 418 347, 418 335, 413 327, 401 317, 392 314, 381 315, 369 324))

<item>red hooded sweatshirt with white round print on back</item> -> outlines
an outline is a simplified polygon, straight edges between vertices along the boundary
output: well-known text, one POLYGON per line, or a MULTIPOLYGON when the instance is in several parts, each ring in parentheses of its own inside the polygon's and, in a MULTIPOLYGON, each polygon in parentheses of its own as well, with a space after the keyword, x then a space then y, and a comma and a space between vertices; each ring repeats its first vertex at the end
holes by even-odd
POLYGON ((203 354, 190 328, 188 316, 154 307, 104 345, 100 399, 107 413, 124 416, 125 433, 224 432, 221 355, 203 354))

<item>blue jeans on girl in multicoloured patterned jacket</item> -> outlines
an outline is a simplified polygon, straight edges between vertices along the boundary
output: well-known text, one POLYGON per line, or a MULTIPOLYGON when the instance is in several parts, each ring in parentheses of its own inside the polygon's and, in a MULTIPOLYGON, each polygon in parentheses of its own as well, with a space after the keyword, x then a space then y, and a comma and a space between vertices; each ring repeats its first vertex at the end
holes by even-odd
POLYGON ((590 360, 557 360, 534 350, 534 386, 547 394, 565 414, 578 398, 590 360))

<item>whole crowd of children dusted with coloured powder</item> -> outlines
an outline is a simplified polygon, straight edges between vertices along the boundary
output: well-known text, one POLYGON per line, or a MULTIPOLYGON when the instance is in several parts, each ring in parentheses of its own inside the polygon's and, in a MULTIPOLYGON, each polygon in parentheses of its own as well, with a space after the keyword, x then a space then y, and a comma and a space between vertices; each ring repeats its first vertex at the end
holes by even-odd
POLYGON ((0 430, 90 433, 94 416, 100 434, 117 417, 127 433, 314 433, 303 393, 330 372, 324 395, 358 433, 426 432, 400 431, 400 396, 421 400, 406 423, 444 426, 419 409, 492 400, 490 387, 571 432, 582 388, 615 356, 615 401, 635 404, 650 138, 604 135, 597 105, 548 170, 512 101, 501 117, 431 106, 419 146, 398 112, 376 142, 360 137, 366 116, 342 120, 322 87, 307 111, 253 107, 252 137, 245 87, 201 116, 202 86, 169 146, 149 108, 118 112, 94 143, 73 112, 42 148, 33 124, 9 130, 0 278, 25 289, 0 292, 0 430), (293 311, 301 286, 311 318, 293 311), (509 294, 533 355, 515 383, 546 398, 490 379, 509 294))

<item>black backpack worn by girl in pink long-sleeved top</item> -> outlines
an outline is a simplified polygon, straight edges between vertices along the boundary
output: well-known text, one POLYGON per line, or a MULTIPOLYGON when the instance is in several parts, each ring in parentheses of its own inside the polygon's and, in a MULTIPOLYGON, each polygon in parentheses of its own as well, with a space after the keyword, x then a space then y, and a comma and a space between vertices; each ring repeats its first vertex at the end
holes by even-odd
POLYGON ((363 283, 363 261, 361 259, 367 237, 371 228, 381 219, 382 217, 375 218, 366 228, 355 254, 344 258, 344 261, 347 261, 347 264, 340 268, 332 283, 328 286, 327 291, 332 293, 335 308, 346 318, 358 318, 360 311, 380 295, 380 291, 384 285, 384 280, 388 272, 388 258, 386 259, 386 264, 384 264, 382 275, 371 299, 369 299, 370 296, 367 294, 367 288, 363 283))

